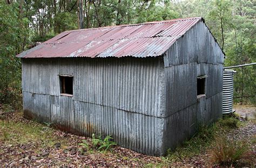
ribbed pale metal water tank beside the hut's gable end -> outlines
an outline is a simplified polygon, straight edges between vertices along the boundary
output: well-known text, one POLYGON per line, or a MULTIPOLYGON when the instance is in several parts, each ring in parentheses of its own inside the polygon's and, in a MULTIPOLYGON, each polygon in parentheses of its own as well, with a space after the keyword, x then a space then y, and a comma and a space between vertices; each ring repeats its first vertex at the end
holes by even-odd
POLYGON ((232 69, 223 72, 223 114, 232 113, 234 73, 232 69))

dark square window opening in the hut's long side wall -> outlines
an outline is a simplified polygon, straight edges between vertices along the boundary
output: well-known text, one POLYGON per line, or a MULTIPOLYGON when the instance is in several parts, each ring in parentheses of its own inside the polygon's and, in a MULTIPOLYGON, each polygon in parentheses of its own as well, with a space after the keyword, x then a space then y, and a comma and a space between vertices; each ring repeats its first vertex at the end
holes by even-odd
POLYGON ((60 93, 73 94, 73 76, 59 76, 60 79, 60 93))

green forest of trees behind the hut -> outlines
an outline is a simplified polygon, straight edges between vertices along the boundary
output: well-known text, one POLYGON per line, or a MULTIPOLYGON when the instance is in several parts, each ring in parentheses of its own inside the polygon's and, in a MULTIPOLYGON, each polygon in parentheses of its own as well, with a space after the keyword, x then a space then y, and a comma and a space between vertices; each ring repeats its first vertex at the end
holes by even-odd
MULTIPOLYGON (((0 0, 0 102, 22 102, 21 59, 15 55, 60 32, 83 27, 203 17, 226 54, 225 66, 256 62, 255 4, 253 0, 0 0)), ((255 69, 234 69, 236 103, 256 103, 255 69)))

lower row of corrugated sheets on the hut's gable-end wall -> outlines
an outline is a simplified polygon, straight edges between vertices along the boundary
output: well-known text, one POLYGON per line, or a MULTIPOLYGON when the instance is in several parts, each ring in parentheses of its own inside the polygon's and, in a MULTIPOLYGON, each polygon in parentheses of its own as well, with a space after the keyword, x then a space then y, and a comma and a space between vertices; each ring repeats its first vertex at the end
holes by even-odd
POLYGON ((222 92, 211 97, 202 96, 198 102, 174 113, 165 120, 164 152, 197 134, 199 127, 210 125, 222 117, 222 92))

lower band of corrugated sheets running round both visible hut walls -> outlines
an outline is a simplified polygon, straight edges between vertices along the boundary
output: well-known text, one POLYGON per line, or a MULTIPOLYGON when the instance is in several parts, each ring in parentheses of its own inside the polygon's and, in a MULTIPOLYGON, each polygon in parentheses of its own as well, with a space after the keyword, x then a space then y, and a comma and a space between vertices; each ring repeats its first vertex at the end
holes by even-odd
POLYGON ((165 118, 72 100, 72 97, 24 92, 23 101, 25 118, 49 122, 57 129, 80 136, 111 135, 120 146, 154 156, 175 149, 196 134, 199 124, 210 124, 222 114, 222 106, 218 106, 222 93, 207 97, 203 105, 199 101, 165 118), (45 102, 33 103, 37 99, 45 102))

